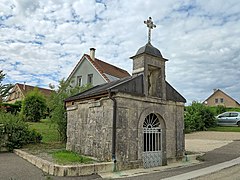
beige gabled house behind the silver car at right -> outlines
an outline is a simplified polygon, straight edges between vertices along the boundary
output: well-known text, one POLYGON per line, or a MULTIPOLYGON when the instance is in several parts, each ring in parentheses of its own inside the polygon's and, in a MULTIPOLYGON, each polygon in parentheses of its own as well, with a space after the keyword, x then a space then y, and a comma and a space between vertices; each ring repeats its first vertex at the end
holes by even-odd
POLYGON ((203 103, 206 106, 222 105, 225 107, 240 107, 240 104, 236 100, 220 89, 214 89, 213 94, 209 96, 203 103))

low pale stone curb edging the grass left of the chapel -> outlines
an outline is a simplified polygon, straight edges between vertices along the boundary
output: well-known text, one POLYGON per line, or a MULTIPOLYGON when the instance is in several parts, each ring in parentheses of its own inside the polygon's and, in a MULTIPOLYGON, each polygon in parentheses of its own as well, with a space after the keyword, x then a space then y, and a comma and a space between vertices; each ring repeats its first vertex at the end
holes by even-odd
POLYGON ((81 165, 59 165, 19 149, 14 149, 14 153, 53 176, 81 176, 111 172, 114 164, 113 162, 104 162, 81 165))

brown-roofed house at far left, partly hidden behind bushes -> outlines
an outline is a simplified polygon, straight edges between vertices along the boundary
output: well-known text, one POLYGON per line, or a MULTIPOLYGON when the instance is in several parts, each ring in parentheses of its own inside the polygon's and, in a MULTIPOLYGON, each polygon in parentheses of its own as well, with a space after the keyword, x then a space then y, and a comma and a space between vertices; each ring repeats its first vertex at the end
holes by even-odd
MULTIPOLYGON (((23 100, 27 93, 30 91, 33 91, 33 89, 36 88, 35 86, 30 86, 20 83, 16 83, 14 87, 11 89, 10 95, 7 97, 6 102, 7 103, 15 103, 16 101, 21 101, 23 100)), ((53 92, 50 89, 45 89, 45 88, 39 88, 38 90, 44 95, 44 96, 50 96, 51 93, 53 92)))

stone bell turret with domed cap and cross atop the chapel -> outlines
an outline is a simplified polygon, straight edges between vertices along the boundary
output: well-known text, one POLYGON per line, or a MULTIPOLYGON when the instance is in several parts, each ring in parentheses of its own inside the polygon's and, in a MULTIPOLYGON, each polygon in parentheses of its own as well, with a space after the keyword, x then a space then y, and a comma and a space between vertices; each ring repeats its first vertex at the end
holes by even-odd
POLYGON ((151 30, 156 27, 149 17, 144 23, 148 27, 148 42, 141 47, 133 60, 133 75, 143 74, 145 96, 158 97, 166 100, 165 62, 161 52, 151 44, 151 30))

